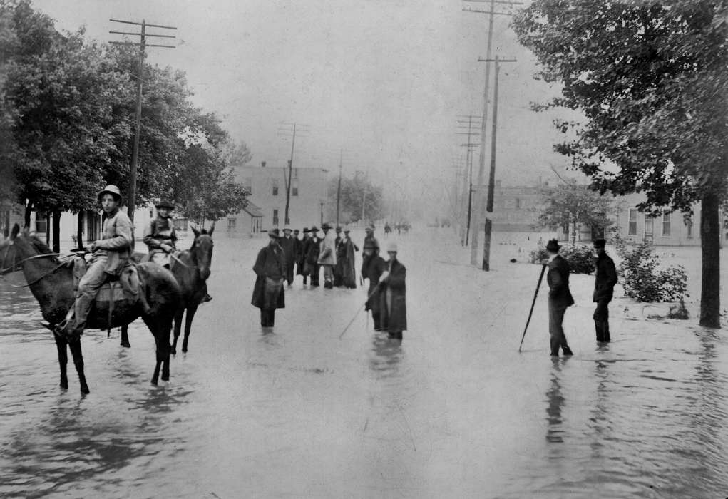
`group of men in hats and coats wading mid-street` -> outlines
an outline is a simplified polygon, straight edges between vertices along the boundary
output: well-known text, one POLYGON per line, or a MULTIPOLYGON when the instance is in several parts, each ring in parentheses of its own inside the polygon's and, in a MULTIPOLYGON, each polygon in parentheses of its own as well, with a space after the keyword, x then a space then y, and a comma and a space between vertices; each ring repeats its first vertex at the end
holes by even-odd
MULTIPOLYGON (((304 228, 303 239, 299 239, 297 229, 291 231, 288 226, 283 228, 283 236, 277 228, 268 232, 268 244, 258 252, 253 266, 257 279, 251 303, 261 309, 261 327, 274 326, 275 309, 285 307, 284 282, 291 287, 296 275, 303 276, 304 287, 309 279, 312 288, 319 287, 322 273, 325 289, 357 287, 355 252, 359 248, 349 237, 349 228, 344 228, 343 236, 341 228, 333 231, 330 223, 323 224, 322 230, 320 237, 315 225, 304 228)), ((387 331, 390 338, 401 340, 407 329, 406 269, 397 260, 397 244, 387 244, 389 260, 384 260, 379 255, 374 225, 365 230, 360 271, 360 283, 369 280, 365 309, 371 310, 374 330, 387 331)))

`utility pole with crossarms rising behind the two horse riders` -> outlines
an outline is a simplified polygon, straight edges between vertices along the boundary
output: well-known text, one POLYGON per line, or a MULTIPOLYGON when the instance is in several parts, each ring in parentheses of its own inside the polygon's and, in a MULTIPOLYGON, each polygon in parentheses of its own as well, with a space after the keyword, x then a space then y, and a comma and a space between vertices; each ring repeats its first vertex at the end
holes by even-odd
MULTIPOLYGON (((127 215, 129 215, 129 219, 132 221, 132 226, 134 222, 134 212, 136 209, 136 174, 137 174, 137 161, 139 157, 139 132, 141 131, 141 88, 142 88, 142 80, 143 80, 143 72, 144 72, 144 57, 145 57, 145 49, 146 47, 164 47, 166 49, 174 49, 174 45, 159 45, 159 44, 148 44, 146 43, 147 37, 154 37, 154 38, 176 38, 173 35, 159 35, 159 34, 151 34, 146 32, 146 28, 160 28, 160 29, 177 29, 174 26, 162 26, 159 24, 148 24, 145 20, 142 20, 141 23, 135 23, 133 21, 124 21, 119 19, 109 19, 112 23, 123 23, 123 24, 132 24, 136 26, 141 27, 141 31, 139 33, 133 33, 129 31, 109 31, 109 33, 113 33, 116 35, 124 35, 124 36, 139 36, 140 41, 139 43, 131 42, 131 41, 111 41, 111 44, 114 45, 132 45, 134 47, 139 47, 139 70, 138 74, 136 75, 137 79, 137 102, 136 102, 136 125, 134 130, 134 145, 132 147, 132 164, 129 169, 129 202, 127 204, 127 215)), ((132 229, 133 231, 133 229, 132 229)), ((133 240, 133 232, 132 232, 132 240, 133 240)), ((133 243, 132 243, 133 244, 133 243)))

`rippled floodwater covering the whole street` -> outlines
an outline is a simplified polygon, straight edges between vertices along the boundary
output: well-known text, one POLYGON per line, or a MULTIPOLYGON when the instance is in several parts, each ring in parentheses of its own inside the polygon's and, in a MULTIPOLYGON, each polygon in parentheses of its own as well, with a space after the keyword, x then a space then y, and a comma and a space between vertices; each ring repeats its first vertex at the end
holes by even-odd
POLYGON ((539 268, 494 244, 493 271, 474 272, 451 231, 423 227, 398 238, 401 343, 373 332, 363 311, 340 340, 365 291, 303 289, 300 278, 263 332, 249 303, 265 243, 215 234, 214 300, 159 387, 140 322, 130 349, 118 330, 87 332, 91 394, 79 393, 72 363, 62 391, 39 308, 9 285, 22 276, 0 282, 0 496, 728 495, 724 330, 622 316, 632 306, 622 298, 614 342, 599 347, 593 277, 574 276, 565 328, 575 355, 548 355, 543 290, 518 353, 539 268))

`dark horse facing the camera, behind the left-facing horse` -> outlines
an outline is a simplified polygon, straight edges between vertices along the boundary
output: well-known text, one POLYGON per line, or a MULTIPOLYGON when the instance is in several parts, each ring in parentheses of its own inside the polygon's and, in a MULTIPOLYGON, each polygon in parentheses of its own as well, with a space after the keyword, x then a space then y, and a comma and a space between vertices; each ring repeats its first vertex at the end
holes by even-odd
MULTIPOLYGON (((175 314, 175 339, 172 343, 172 353, 177 354, 177 340, 180 337, 182 329, 182 317, 184 316, 184 338, 182 340, 182 351, 187 351, 187 342, 189 341, 189 332, 192 327, 192 319, 197 312, 197 307, 205 298, 207 287, 205 282, 210 277, 210 264, 213 260, 213 232, 215 231, 215 223, 210 226, 210 230, 192 227, 194 232, 194 241, 189 250, 175 255, 177 260, 173 260, 172 274, 177 279, 182 290, 182 300, 180 308, 175 314), (187 314, 185 315, 185 311, 187 314)), ((129 334, 127 327, 122 327, 122 346, 129 347, 129 334)))

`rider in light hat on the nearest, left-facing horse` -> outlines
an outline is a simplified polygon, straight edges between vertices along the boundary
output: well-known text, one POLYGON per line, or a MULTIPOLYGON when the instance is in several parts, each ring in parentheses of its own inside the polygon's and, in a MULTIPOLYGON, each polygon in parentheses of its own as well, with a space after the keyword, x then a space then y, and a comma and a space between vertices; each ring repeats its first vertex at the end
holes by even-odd
POLYGON ((101 239, 93 242, 89 251, 93 253, 86 274, 79 281, 74 303, 74 318, 66 324, 59 324, 58 333, 67 338, 77 338, 84 332, 86 319, 93 305, 96 293, 109 276, 119 276, 132 253, 132 222, 119 209, 122 193, 116 185, 107 185, 98 193, 106 219, 101 228, 101 239))

